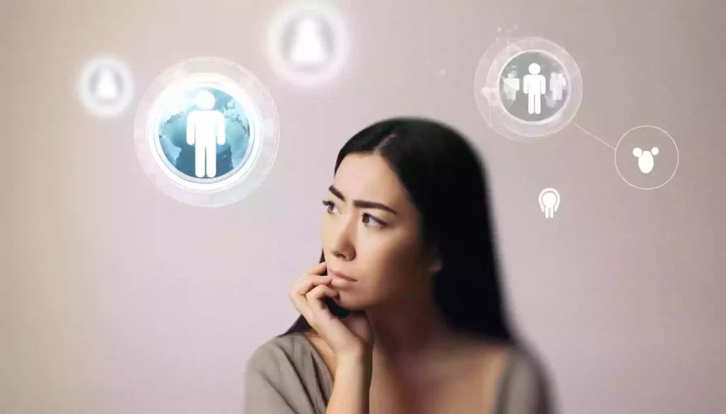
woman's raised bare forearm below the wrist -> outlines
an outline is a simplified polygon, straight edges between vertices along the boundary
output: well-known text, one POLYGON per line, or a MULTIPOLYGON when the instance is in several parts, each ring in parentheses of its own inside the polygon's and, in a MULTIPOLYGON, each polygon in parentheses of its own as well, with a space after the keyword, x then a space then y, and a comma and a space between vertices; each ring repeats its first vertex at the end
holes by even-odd
POLYGON ((350 357, 338 360, 333 393, 326 414, 369 414, 370 358, 350 357))

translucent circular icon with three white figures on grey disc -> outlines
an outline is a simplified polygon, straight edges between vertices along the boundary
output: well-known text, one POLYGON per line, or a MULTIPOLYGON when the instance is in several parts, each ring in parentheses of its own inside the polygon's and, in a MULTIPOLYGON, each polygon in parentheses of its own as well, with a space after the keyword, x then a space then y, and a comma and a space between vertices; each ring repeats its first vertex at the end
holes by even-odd
POLYGON ((474 95, 494 131, 533 141, 571 122, 582 102, 582 76, 570 54, 551 41, 497 39, 479 61, 474 95))

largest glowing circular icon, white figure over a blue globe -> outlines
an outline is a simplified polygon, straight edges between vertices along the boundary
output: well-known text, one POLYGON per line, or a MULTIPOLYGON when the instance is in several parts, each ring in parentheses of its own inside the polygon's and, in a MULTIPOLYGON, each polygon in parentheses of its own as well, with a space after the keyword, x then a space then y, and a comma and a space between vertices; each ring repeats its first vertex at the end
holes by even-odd
POLYGON ((240 65, 189 59, 146 91, 134 141, 144 172, 161 191, 218 207, 247 196, 269 173, 279 144, 277 108, 240 65))

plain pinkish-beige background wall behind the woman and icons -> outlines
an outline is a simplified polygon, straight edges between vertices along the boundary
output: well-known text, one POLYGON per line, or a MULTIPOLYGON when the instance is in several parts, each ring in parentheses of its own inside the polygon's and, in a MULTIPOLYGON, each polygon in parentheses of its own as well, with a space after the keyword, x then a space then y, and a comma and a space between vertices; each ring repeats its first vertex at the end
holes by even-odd
POLYGON ((301 91, 274 77, 262 46, 282 1, 2 2, 0 412, 240 413, 250 352, 292 323, 288 286, 318 258, 335 154, 392 115, 452 123, 481 149, 511 312, 563 413, 721 412, 722 2, 338 4, 350 65, 301 91), (474 70, 497 27, 515 25, 580 65, 577 125, 612 146, 638 125, 668 131, 672 181, 633 189, 613 150, 574 125, 542 144, 489 129, 474 70), (102 122, 76 99, 78 71, 107 53, 131 65, 134 104, 182 59, 255 73, 282 128, 264 185, 216 209, 155 189, 136 160, 135 107, 102 122), (554 220, 537 204, 549 186, 563 199, 554 220), (194 254, 192 239, 205 242, 194 254))

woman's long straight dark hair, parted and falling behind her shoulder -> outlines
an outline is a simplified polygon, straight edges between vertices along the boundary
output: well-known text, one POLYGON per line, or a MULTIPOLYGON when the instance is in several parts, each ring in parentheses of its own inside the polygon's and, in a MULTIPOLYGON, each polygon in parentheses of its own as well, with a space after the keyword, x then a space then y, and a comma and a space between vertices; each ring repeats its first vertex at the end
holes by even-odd
MULTIPOLYGON (((445 322, 473 336, 516 344, 505 315, 484 165, 471 144, 436 121, 396 117, 350 138, 334 173, 348 154, 380 155, 408 191, 425 240, 439 249, 443 266, 432 294, 445 322)), ((347 315, 335 302, 327 305, 335 315, 347 315)), ((282 335, 310 329, 300 316, 282 335)))

